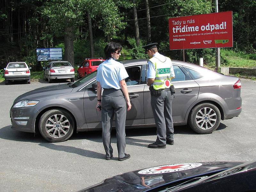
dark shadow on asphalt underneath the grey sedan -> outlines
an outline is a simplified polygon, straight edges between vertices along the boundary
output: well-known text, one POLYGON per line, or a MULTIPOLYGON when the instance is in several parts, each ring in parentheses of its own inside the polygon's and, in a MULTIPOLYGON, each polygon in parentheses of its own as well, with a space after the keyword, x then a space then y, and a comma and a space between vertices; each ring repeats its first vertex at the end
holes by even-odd
MULTIPOLYGON (((225 129, 227 126, 220 123, 220 126, 216 131, 225 129)), ((155 140, 143 140, 136 139, 132 137, 139 136, 156 136, 156 128, 139 128, 139 129, 127 129, 126 131, 126 144, 136 145, 140 147, 147 147, 148 144, 142 143, 153 143, 155 140)), ((175 126, 174 127, 174 138, 175 134, 182 135, 198 135, 198 133, 192 131, 189 126, 175 126)), ((11 129, 11 125, 5 126, 0 129, 0 138, 5 140, 23 141, 23 142, 33 142, 33 143, 49 143, 40 134, 35 135, 29 132, 20 132, 11 129)), ((91 132, 78 132, 74 133, 69 140, 90 140, 98 143, 102 143, 101 131, 91 131, 91 132)), ((111 142, 116 143, 116 130, 113 128, 111 132, 111 142)))

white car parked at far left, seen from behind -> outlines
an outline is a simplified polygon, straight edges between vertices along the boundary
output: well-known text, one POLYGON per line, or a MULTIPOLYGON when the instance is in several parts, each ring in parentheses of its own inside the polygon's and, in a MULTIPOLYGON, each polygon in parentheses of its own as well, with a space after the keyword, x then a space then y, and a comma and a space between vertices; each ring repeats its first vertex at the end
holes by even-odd
POLYGON ((11 62, 4 68, 4 80, 7 85, 10 81, 26 81, 30 84, 30 68, 25 62, 11 62))

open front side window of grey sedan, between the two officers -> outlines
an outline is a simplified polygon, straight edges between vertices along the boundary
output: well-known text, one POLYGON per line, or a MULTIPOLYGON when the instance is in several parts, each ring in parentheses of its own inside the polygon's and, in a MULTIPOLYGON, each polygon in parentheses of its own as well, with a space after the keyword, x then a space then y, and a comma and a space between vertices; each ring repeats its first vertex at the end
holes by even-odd
POLYGON ((125 79, 127 86, 140 84, 141 66, 128 67, 126 71, 129 75, 129 77, 125 79))

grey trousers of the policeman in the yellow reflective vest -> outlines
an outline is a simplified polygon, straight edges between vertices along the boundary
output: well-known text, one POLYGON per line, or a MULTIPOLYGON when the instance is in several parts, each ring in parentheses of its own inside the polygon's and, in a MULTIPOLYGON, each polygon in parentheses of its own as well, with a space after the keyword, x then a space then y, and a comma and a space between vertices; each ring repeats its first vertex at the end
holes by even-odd
POLYGON ((156 123, 156 143, 160 145, 165 145, 166 139, 173 140, 172 100, 171 91, 162 91, 159 96, 151 95, 151 107, 156 123))

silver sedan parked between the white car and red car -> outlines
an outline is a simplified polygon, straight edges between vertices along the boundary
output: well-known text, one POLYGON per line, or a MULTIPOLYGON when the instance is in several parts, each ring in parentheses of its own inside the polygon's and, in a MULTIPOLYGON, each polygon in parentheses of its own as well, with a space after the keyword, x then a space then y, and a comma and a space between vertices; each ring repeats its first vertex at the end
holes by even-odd
POLYGON ((75 81, 75 69, 68 61, 51 61, 44 69, 44 80, 52 83, 53 79, 75 81))

